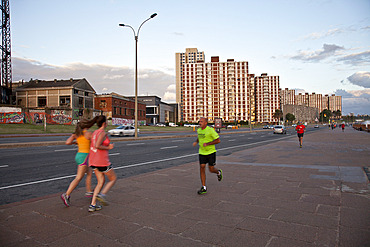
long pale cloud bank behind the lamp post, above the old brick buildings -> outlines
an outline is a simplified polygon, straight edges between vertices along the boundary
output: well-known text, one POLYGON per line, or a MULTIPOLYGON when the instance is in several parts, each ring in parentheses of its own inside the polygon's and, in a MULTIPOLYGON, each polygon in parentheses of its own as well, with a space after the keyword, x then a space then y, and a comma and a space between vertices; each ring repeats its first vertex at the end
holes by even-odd
MULTIPOLYGON (((70 63, 64 66, 12 57, 13 81, 86 78, 97 93, 116 92, 125 96, 135 95, 134 69, 102 64, 70 63)), ((175 82, 173 75, 159 70, 139 69, 138 94, 163 97, 169 84, 175 82)))

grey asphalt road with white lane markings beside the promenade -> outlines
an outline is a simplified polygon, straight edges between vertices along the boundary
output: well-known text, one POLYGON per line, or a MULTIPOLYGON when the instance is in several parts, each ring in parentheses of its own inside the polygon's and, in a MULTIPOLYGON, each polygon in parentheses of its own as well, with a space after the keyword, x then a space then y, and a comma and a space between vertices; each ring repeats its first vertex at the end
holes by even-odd
MULTIPOLYGON (((314 131, 309 127, 307 131, 314 131)), ((265 145, 282 138, 296 138, 272 131, 223 134, 217 155, 265 145)), ((112 138, 114 139, 114 138, 112 138)), ((65 140, 65 137, 64 139, 65 140)), ((197 161, 194 137, 116 142, 110 160, 118 179, 197 161)), ((76 146, 43 146, 3 149, 0 153, 0 205, 64 192, 76 173, 76 146)), ((96 178, 93 175, 93 185, 96 178)), ((84 186, 84 181, 79 185, 84 186)), ((73 195, 73 194, 72 194, 73 195)))

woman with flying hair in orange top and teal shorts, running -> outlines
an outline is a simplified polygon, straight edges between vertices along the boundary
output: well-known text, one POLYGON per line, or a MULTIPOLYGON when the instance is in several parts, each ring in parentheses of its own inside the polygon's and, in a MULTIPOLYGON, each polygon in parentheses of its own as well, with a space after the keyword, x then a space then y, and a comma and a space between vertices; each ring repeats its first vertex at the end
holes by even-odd
POLYGON ((92 171, 88 166, 90 139, 91 139, 91 132, 89 132, 88 129, 94 125, 95 121, 96 119, 92 120, 82 119, 79 123, 77 123, 75 132, 66 141, 67 145, 72 144, 78 145, 78 151, 75 157, 77 163, 76 178, 70 183, 67 192, 61 195, 61 198, 67 207, 70 206, 70 197, 72 191, 81 182, 85 174, 86 174, 85 196, 92 197, 93 195, 93 192, 91 190, 92 171))

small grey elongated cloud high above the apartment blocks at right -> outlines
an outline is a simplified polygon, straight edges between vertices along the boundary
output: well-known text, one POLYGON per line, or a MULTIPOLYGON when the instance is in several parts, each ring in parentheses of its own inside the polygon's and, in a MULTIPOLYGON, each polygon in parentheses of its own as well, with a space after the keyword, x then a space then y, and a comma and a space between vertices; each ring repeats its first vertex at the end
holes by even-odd
POLYGON ((299 51, 297 55, 291 59, 301 60, 306 62, 320 62, 326 58, 337 55, 338 51, 344 50, 344 47, 334 44, 324 44, 323 48, 317 51, 299 51))

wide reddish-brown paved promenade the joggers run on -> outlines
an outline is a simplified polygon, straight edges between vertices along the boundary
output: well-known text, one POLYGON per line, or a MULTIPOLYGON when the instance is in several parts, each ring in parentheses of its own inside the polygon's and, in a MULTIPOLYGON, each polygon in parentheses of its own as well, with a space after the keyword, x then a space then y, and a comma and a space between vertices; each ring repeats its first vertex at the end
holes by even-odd
MULTIPOLYGON (((222 141, 222 136, 221 136, 222 141)), ((89 213, 84 188, 0 206, 1 246, 370 246, 370 134, 322 129, 121 179, 89 213)), ((67 185, 66 185, 67 186, 67 185)))

